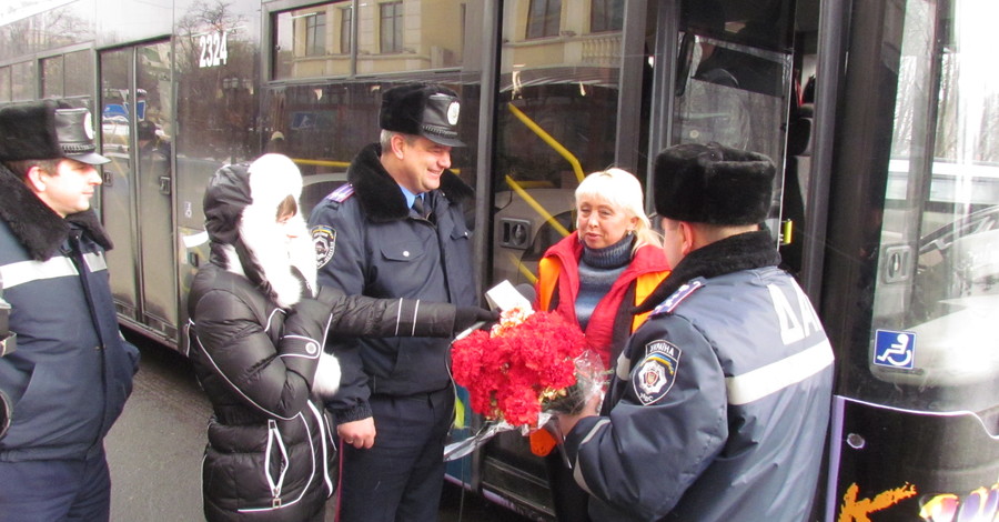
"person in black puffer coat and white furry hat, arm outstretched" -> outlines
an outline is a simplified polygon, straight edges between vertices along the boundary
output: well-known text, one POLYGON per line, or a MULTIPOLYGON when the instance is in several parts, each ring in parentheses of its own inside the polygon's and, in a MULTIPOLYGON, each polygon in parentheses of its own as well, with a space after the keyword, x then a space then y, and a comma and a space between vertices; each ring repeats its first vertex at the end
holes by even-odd
POLYGON ((297 212, 302 178, 265 154, 215 172, 204 197, 211 263, 191 287, 191 359, 214 414, 202 469, 209 521, 321 521, 336 484, 322 398, 340 383, 326 334, 450 337, 477 308, 316 289, 297 212))

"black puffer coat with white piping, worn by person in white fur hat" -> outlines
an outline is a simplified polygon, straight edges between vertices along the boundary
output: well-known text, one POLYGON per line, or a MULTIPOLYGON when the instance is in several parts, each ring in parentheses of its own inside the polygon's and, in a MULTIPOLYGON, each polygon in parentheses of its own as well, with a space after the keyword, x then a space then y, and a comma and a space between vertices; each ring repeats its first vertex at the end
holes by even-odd
MULTIPOLYGON (((285 311, 220 267, 195 277, 191 359, 214 410, 202 470, 210 520, 307 520, 333 493, 335 431, 310 399, 312 373, 297 360, 314 372, 327 329, 391 335, 414 327, 400 320, 412 301, 339 298, 285 311)), ((420 309, 417 334, 451 334, 453 308, 420 309)))

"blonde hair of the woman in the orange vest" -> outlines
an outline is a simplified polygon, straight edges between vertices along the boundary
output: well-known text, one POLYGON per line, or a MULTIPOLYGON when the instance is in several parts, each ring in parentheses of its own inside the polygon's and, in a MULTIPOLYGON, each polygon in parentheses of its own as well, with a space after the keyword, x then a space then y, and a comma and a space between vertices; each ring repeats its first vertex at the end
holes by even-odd
POLYGON ((648 214, 645 213, 642 184, 630 172, 613 167, 587 175, 579 182, 579 187, 576 187, 576 205, 583 197, 602 199, 624 211, 629 218, 638 218, 635 225, 637 240, 632 248, 633 255, 646 244, 663 248, 662 237, 653 230, 648 214))

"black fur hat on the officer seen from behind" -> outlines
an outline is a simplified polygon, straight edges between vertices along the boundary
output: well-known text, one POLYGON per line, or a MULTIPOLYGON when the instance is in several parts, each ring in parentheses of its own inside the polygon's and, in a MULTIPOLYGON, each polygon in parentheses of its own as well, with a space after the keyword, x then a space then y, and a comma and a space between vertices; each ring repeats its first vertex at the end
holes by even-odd
POLYGON ((770 210, 769 158, 718 143, 684 143, 656 157, 656 212, 676 221, 755 224, 770 210))

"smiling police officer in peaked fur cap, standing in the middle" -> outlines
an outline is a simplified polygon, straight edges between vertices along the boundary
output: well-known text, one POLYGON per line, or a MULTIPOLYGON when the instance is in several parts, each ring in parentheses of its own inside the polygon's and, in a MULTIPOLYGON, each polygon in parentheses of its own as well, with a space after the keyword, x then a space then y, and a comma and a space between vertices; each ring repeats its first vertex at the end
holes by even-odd
MULTIPOLYGON (((347 294, 476 303, 472 189, 448 170, 462 147, 461 104, 450 89, 405 84, 382 94, 380 143, 347 169, 310 225, 319 281, 347 294)), ((343 370, 327 403, 343 441, 344 522, 431 521, 444 479, 454 390, 450 340, 363 339, 334 351, 343 370)))

